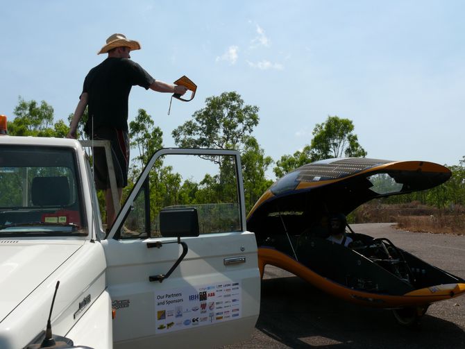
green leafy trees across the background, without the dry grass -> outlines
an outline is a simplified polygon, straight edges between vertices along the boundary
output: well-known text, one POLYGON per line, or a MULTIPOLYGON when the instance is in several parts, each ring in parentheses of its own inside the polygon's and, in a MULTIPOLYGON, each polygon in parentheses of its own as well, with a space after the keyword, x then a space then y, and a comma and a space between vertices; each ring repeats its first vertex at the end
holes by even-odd
MULTIPOLYGON (((250 210, 258 198, 272 184, 266 173, 273 164, 271 157, 265 155, 253 130, 259 123, 259 108, 246 105, 237 92, 223 92, 220 96, 211 96, 205 100, 205 107, 194 112, 192 119, 178 126, 172 135, 178 146, 187 148, 237 149, 241 153, 242 175, 246 210, 250 210)), ((25 101, 19 96, 14 110, 15 119, 8 122, 10 135, 65 137, 69 131, 65 121, 53 119, 53 108, 45 101, 25 101)), ((69 121, 73 114, 69 115, 69 121)), ((78 135, 83 136, 83 126, 87 120, 87 110, 78 126, 78 135)), ((303 149, 291 155, 282 155, 273 169, 278 178, 304 164, 326 158, 364 157, 366 151, 359 144, 354 133, 353 122, 337 116, 328 116, 321 124, 316 124, 312 140, 303 149)), ((130 146, 136 155, 130 167, 128 187, 124 189, 126 197, 133 187, 142 168, 151 155, 163 146, 162 130, 155 126, 151 115, 140 109, 129 123, 130 146)), ((151 188, 151 212, 169 205, 189 205, 203 203, 230 203, 237 195, 235 167, 232 161, 208 158, 219 165, 217 174, 208 174, 198 182, 192 178, 183 178, 171 166, 164 166, 160 159, 149 176, 151 188)), ((412 194, 391 196, 384 199, 387 203, 419 203, 449 210, 451 207, 465 205, 465 156, 458 165, 449 167, 452 178, 439 187, 412 194)), ((5 182, 5 180, 3 180, 5 182)), ((9 180, 8 182, 12 182, 9 180)), ((15 184, 14 182, 12 182, 15 184)), ((103 207, 103 196, 99 193, 103 207)), ((17 200, 7 197, 5 200, 17 200)))

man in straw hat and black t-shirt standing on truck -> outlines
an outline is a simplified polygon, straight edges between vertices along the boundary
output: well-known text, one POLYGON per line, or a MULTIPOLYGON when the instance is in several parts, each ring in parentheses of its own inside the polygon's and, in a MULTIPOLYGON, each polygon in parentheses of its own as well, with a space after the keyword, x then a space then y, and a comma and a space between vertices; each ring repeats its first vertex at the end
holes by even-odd
MULTIPOLYGON (((131 87, 139 85, 146 90, 180 95, 187 91, 184 86, 155 80, 140 65, 130 60, 130 51, 139 49, 139 42, 128 40, 123 34, 117 33, 108 37, 98 53, 108 53, 108 58, 90 69, 85 77, 83 92, 67 135, 68 138, 76 138, 78 123, 88 106, 89 119, 84 130, 90 139, 110 140, 119 200, 123 188, 128 185, 128 97, 131 87)), ((110 228, 115 221, 116 212, 113 207, 105 152, 101 148, 94 151, 94 175, 96 188, 105 190, 106 223, 110 228)))

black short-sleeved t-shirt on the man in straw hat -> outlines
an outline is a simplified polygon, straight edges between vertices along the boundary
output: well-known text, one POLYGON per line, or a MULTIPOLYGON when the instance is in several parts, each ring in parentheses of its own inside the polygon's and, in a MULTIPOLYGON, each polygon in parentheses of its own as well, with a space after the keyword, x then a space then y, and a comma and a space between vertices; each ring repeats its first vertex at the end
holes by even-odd
POLYGON ((128 130, 128 98, 131 87, 146 90, 155 81, 140 65, 127 58, 107 58, 90 69, 85 77, 83 93, 89 95, 89 120, 85 132, 89 135, 101 126, 128 130))

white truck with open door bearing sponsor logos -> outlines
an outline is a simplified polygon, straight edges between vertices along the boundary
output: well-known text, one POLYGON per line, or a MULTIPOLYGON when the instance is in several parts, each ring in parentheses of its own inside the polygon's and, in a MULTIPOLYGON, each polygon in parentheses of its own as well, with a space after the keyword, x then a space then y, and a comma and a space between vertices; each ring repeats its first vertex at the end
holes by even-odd
POLYGON ((0 348, 214 348, 259 311, 237 151, 158 151, 105 232, 80 142, 0 136, 0 348), (235 194, 155 212, 161 162, 235 194))

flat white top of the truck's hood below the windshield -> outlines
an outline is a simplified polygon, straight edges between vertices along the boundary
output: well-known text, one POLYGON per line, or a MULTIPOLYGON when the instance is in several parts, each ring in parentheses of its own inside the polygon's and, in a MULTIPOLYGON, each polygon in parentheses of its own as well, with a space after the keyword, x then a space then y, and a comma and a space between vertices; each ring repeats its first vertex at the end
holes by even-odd
POLYGON ((0 322, 82 246, 11 242, 0 244, 0 322))

